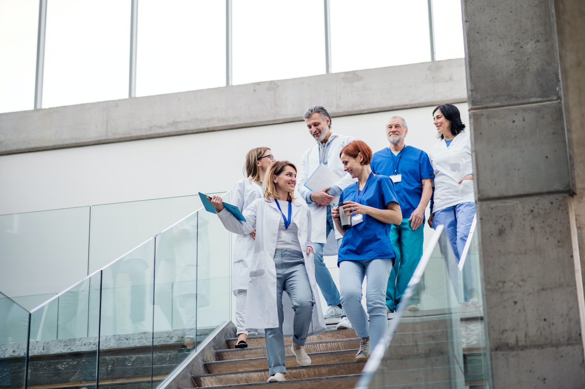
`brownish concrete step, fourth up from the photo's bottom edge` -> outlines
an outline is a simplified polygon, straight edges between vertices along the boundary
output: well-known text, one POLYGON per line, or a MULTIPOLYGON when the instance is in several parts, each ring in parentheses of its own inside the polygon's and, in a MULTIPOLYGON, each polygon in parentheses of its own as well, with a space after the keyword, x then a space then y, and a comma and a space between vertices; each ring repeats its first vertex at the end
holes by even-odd
MULTIPOLYGON (((360 348, 361 338, 334 339, 332 341, 318 341, 305 343, 307 353, 319 353, 325 351, 354 350, 360 348)), ((288 349, 289 345, 285 345, 288 349)), ((290 350, 288 351, 290 352, 290 350)), ((288 353, 287 352, 287 353, 288 353)), ((216 350, 218 360, 235 360, 266 357, 266 346, 249 347, 247 349, 216 350)))

